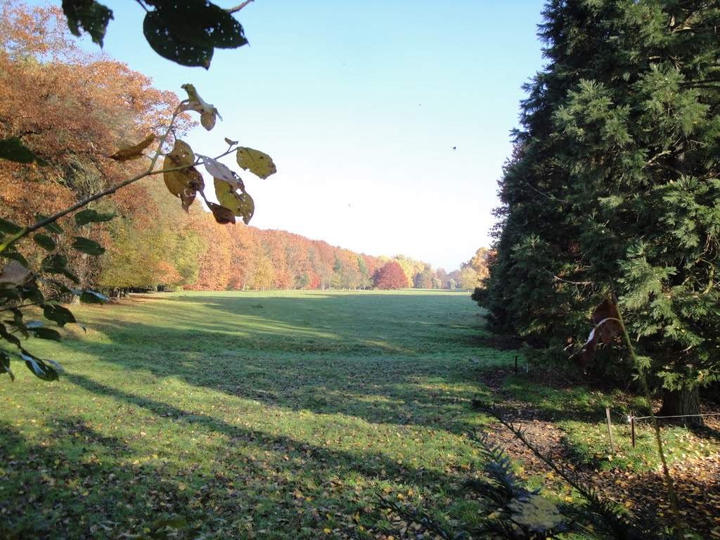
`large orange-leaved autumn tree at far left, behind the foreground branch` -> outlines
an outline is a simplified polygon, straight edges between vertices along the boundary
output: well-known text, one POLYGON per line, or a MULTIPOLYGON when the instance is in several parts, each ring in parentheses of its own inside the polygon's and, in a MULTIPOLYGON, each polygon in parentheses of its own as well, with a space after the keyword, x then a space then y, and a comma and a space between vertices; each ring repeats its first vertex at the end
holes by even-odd
MULTIPOLYGON (((40 208, 52 214, 119 183, 128 174, 137 174, 141 167, 135 162, 118 164, 105 156, 167 125, 179 104, 178 97, 154 89, 149 78, 122 63, 78 50, 57 8, 29 11, 17 2, 6 3, 0 12, 0 28, 0 69, 5 73, 0 78, 4 96, 0 101, 0 138, 22 135, 35 154, 48 163, 39 167, 0 161, 3 217, 12 216, 20 222, 35 220, 40 208)), ((178 134, 188 126, 186 120, 179 121, 178 134)), ((149 215, 157 214, 154 206, 140 184, 91 205, 100 212, 138 220, 137 227, 126 222, 122 228, 114 228, 115 232, 122 229, 126 246, 130 240, 127 233, 147 228, 149 215)), ((61 223, 74 235, 99 241, 117 253, 107 225, 76 228, 72 220, 61 223)), ((71 236, 58 235, 55 242, 66 245, 63 242, 67 238, 71 236)), ((26 245, 25 251, 31 260, 43 255, 37 246, 26 245)), ((70 251, 68 257, 81 287, 102 284, 100 276, 109 256, 88 257, 70 251)), ((170 269, 166 267, 165 274, 167 271, 170 269)), ((114 274, 119 275, 117 271, 114 274)), ((138 274, 132 276, 133 280, 137 278, 138 274)), ((168 277, 168 281, 176 278, 168 277)), ((124 285, 132 286, 129 282, 124 285)))

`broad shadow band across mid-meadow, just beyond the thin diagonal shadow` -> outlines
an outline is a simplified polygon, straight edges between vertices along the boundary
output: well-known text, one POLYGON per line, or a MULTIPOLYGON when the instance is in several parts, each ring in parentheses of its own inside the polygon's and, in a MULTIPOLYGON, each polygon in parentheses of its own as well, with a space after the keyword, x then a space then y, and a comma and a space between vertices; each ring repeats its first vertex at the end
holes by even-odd
MULTIPOLYGON (((133 372, 150 372, 287 410, 341 413, 368 423, 436 427, 451 433, 474 429, 469 405, 487 393, 482 383, 474 382, 477 369, 470 361, 450 362, 443 370, 434 360, 404 356, 279 358, 252 351, 125 351, 101 344, 94 344, 91 352, 128 369, 130 378, 133 372)), ((82 376, 67 377, 74 382, 82 376)))

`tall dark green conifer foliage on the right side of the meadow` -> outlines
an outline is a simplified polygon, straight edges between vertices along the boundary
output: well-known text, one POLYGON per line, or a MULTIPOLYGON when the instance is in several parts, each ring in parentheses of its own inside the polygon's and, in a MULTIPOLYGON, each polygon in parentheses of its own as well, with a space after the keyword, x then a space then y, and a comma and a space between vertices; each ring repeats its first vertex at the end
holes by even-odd
POLYGON ((720 9, 554 0, 544 17, 549 63, 526 86, 476 298, 495 328, 567 351, 613 291, 654 380, 696 391, 720 377, 720 9))

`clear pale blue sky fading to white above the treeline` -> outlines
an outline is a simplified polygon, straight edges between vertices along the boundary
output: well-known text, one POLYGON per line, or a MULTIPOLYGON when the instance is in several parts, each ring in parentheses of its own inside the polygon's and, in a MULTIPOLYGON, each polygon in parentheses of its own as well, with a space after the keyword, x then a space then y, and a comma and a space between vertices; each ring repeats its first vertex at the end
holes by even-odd
POLYGON ((156 55, 136 2, 102 3, 106 53, 219 109, 215 130, 186 138, 196 153, 228 137, 272 156, 274 176, 241 175, 251 225, 448 271, 490 245, 543 1, 256 0, 235 16, 250 46, 217 51, 209 71, 156 55))

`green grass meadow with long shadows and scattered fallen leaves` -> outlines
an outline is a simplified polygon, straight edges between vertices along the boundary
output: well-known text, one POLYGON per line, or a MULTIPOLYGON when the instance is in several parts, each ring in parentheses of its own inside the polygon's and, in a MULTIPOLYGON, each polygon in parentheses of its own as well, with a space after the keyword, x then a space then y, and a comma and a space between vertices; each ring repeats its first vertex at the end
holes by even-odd
MULTIPOLYGON (((371 538, 377 493, 464 523, 482 314, 453 292, 158 295, 32 341, 0 384, 2 538, 371 538), (137 535, 137 536, 132 536, 137 535)), ((387 528, 387 531, 384 531, 387 528)))

